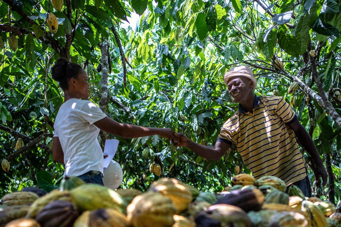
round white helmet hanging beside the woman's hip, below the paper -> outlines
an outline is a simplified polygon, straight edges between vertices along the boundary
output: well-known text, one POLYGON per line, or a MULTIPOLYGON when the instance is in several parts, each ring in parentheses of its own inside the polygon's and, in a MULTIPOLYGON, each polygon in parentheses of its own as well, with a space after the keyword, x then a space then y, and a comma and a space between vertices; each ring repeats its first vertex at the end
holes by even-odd
POLYGON ((120 164, 114 160, 111 160, 108 168, 104 170, 103 174, 103 183, 105 187, 115 190, 121 185, 123 180, 123 171, 120 164))

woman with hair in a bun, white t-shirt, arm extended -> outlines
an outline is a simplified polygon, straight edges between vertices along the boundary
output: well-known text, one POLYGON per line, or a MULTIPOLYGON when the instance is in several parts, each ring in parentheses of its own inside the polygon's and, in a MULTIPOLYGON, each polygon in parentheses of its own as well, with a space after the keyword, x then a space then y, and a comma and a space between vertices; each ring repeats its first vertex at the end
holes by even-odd
POLYGON ((64 103, 57 113, 52 155, 65 164, 64 177, 77 176, 103 185, 103 151, 97 140, 100 129, 124 138, 160 135, 177 143, 172 129, 148 128, 118 123, 109 118, 89 97, 88 76, 83 68, 60 58, 52 78, 64 90, 64 103))

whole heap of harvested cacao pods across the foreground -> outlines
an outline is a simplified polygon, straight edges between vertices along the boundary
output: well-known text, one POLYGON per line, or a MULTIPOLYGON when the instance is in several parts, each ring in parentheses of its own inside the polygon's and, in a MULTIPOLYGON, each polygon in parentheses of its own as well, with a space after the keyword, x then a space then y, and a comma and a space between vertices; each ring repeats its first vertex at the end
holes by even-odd
POLYGON ((232 178, 220 193, 199 192, 174 178, 146 192, 111 190, 63 179, 49 193, 31 187, 5 195, 0 227, 338 227, 341 213, 329 201, 307 198, 273 176, 232 178))

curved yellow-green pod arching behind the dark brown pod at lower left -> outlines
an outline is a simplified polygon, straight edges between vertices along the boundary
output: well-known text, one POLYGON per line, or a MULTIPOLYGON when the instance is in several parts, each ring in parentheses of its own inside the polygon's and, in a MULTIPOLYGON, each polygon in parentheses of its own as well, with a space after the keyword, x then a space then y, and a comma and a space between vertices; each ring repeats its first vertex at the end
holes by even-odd
POLYGON ((30 206, 29 211, 27 212, 26 217, 34 218, 35 215, 43 209, 47 204, 50 202, 53 202, 55 200, 65 200, 65 201, 70 201, 70 192, 69 191, 64 191, 61 192, 59 190, 53 190, 46 195, 43 195, 42 197, 36 199, 30 206))

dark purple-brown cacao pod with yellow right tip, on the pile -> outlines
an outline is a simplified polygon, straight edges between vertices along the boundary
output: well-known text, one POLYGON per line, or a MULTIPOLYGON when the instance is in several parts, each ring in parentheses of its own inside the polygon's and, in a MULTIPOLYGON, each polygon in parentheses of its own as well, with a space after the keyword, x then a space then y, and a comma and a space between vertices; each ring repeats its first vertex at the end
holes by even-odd
POLYGON ((224 195, 215 204, 229 204, 243 209, 246 212, 260 210, 265 197, 258 189, 235 190, 224 195))

